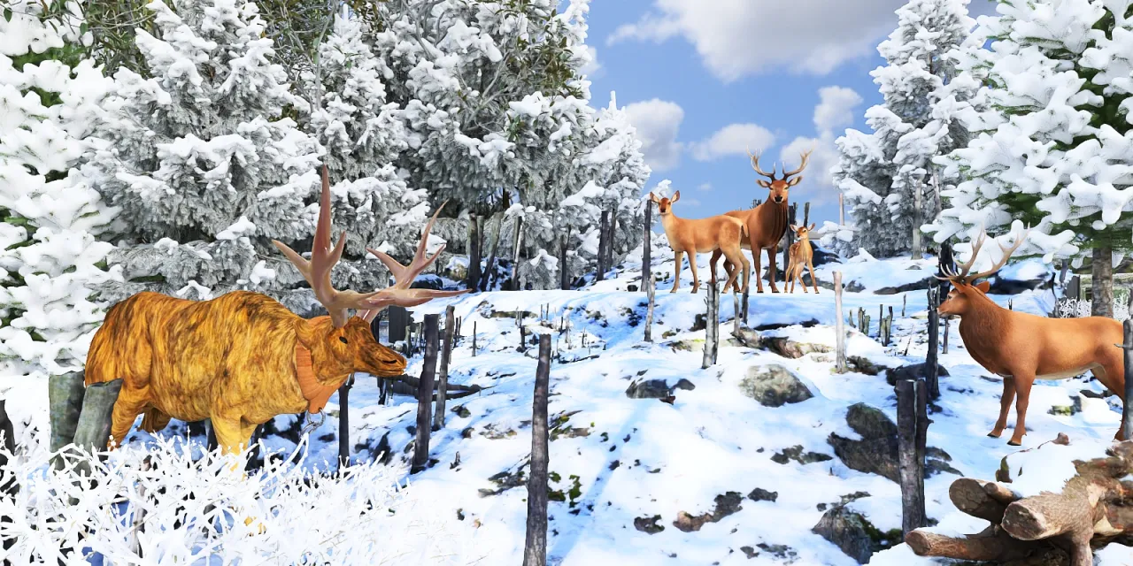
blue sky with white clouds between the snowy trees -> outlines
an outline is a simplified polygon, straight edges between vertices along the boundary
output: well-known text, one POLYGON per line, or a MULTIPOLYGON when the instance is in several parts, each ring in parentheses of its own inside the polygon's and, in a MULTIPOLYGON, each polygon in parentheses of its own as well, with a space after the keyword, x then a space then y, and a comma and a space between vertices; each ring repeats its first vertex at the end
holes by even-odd
MULTIPOLYGON (((902 0, 593 0, 596 54, 591 102, 616 92, 654 168, 681 191, 679 216, 702 217, 766 198, 744 145, 760 168, 815 147, 791 201, 811 201, 811 222, 837 221, 828 169, 833 140, 868 131, 864 111, 881 102, 869 71, 877 44, 896 27, 902 0), (817 111, 817 112, 816 112, 817 111)), ((993 14, 971 0, 973 17, 993 14)))

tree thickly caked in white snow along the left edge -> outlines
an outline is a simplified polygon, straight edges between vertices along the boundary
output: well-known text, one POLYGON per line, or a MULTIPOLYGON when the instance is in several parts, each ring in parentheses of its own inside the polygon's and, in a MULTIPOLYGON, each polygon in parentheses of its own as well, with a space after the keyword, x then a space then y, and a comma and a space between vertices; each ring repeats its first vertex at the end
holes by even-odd
POLYGON ((82 369, 105 307, 93 291, 118 276, 95 239, 113 211, 74 171, 109 79, 82 58, 74 2, 0 9, 0 376, 61 375, 82 369))

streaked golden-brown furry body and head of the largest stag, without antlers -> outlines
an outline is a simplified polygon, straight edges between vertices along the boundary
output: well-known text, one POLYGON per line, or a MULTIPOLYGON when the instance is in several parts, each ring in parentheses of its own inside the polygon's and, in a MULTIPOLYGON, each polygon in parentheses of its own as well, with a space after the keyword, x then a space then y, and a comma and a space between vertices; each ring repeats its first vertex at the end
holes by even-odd
POLYGON ((235 452, 247 446, 257 424, 307 408, 295 367, 297 343, 310 350, 316 379, 334 387, 352 371, 391 377, 406 367, 359 317, 333 328, 327 316, 308 321, 248 291, 207 301, 142 292, 107 312, 91 342, 86 384, 122 379, 111 447, 144 412, 148 431, 171 417, 211 419, 218 444, 235 452))

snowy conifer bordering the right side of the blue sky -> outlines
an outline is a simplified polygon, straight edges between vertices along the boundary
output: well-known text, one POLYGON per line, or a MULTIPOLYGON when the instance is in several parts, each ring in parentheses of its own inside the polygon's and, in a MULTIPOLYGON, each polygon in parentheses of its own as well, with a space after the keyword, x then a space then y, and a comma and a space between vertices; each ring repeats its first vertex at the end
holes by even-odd
POLYGON ((853 246, 881 257, 920 254, 914 243, 936 218, 937 183, 949 182, 931 160, 968 143, 961 117, 978 86, 953 82, 951 53, 974 25, 968 0, 910 0, 896 14, 897 28, 877 46, 886 65, 870 72, 885 100, 866 112, 874 131, 837 139, 834 174, 857 223, 853 246))

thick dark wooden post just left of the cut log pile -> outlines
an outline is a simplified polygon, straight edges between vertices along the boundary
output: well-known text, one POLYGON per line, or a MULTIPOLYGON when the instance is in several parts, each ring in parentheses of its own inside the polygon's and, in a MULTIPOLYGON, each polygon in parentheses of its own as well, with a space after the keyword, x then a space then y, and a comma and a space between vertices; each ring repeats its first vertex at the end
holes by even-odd
POLYGON ((926 384, 921 380, 901 379, 897 393, 897 464, 901 479, 901 531, 909 534, 927 526, 925 517, 925 452, 921 447, 921 426, 928 428, 922 417, 926 384), (923 420, 923 423, 921 422, 923 420))

